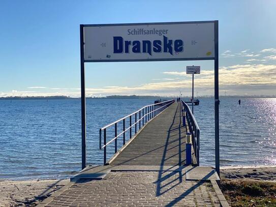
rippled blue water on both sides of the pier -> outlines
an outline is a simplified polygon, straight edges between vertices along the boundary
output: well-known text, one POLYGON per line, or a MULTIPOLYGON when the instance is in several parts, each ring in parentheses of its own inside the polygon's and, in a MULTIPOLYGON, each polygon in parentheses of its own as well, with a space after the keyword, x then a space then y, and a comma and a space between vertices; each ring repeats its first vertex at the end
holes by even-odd
MULTIPOLYGON (((221 165, 275 165, 276 99, 237 101, 221 99, 221 165)), ((153 102, 88 99, 87 162, 103 162, 101 127, 153 102)), ((201 165, 214 165, 213 99, 201 99, 194 109, 201 130, 201 165)), ((110 146, 108 157, 113 151, 110 146)), ((0 179, 64 178, 80 166, 80 100, 0 100, 0 179)))

